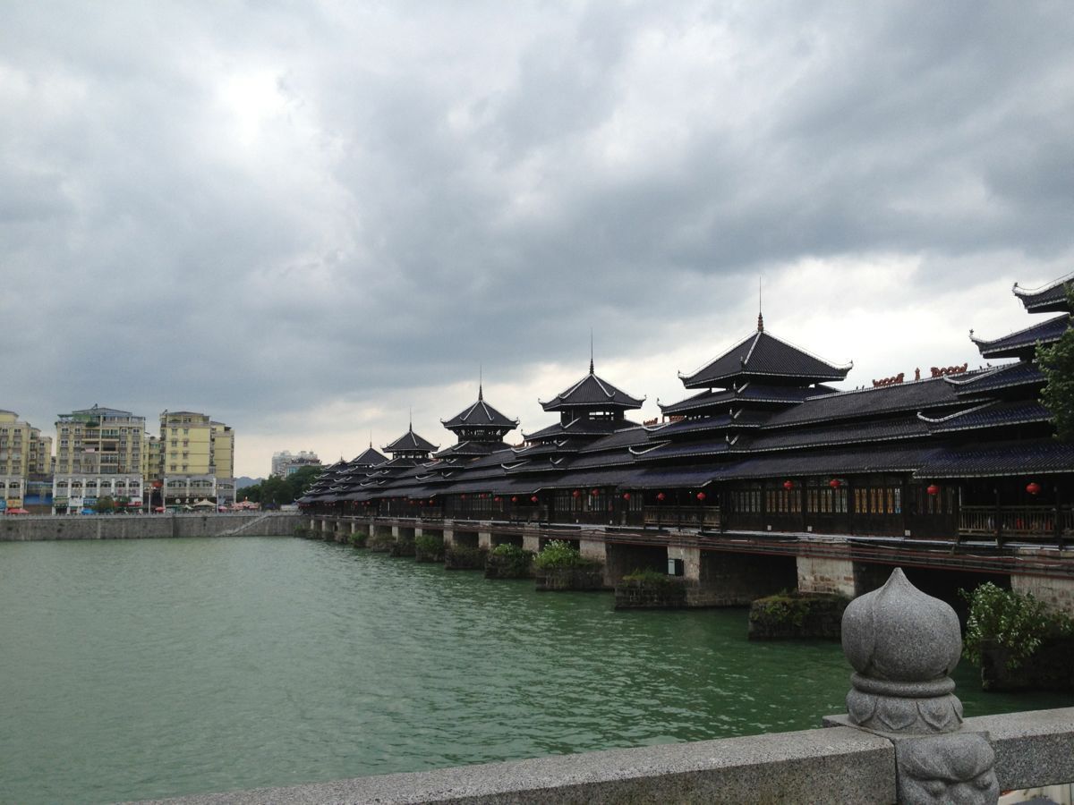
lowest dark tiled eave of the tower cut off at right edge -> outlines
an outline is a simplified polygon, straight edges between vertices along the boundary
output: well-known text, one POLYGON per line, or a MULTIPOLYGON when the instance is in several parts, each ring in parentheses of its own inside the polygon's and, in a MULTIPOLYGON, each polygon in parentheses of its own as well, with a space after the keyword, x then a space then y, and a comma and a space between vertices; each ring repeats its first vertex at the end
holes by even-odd
POLYGON ((996 442, 939 451, 917 478, 991 478, 1074 472, 1074 444, 1055 439, 996 442))

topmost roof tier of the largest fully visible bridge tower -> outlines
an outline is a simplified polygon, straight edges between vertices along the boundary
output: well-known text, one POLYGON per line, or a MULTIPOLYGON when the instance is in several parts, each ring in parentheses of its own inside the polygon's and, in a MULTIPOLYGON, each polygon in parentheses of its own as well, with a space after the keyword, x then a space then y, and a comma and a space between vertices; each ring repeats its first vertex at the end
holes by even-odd
POLYGON ((852 365, 836 366, 758 330, 691 375, 679 374, 687 389, 726 387, 734 378, 757 377, 796 381, 844 380, 852 365))

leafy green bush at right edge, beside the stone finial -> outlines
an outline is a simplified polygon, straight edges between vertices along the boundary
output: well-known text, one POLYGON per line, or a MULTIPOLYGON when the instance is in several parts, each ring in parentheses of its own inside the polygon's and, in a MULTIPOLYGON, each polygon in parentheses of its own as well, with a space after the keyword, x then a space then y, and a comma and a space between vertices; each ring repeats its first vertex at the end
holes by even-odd
POLYGON ((970 604, 962 656, 976 665, 989 645, 1005 648, 1006 665, 1015 669, 1032 657, 1045 639, 1074 634, 1074 620, 1048 612, 1032 595, 1001 589, 991 582, 958 594, 970 604))

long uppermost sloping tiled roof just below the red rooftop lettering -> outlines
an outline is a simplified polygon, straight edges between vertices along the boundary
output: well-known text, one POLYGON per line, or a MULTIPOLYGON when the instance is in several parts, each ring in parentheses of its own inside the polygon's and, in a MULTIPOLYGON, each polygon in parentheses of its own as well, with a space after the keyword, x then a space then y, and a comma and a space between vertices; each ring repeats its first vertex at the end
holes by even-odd
POLYGON ((774 414, 766 427, 883 416, 902 411, 917 413, 935 408, 953 408, 964 401, 955 394, 955 387, 950 383, 945 383, 943 378, 929 378, 910 383, 870 386, 812 397, 801 405, 774 414))

